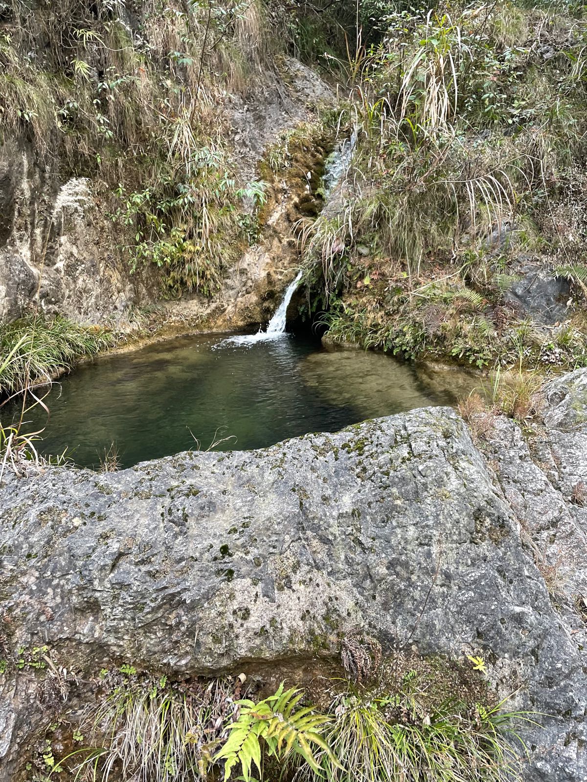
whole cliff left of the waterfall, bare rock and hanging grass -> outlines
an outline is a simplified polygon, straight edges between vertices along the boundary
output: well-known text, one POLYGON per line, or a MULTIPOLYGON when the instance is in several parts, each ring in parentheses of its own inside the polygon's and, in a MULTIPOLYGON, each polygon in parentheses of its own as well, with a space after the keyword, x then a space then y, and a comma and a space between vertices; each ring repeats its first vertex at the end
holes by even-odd
POLYGON ((333 96, 289 56, 284 12, 225 5, 2 6, 0 321, 37 299, 123 326, 182 295, 178 318, 216 328, 272 310, 319 139, 268 189, 263 225, 247 183, 333 96))

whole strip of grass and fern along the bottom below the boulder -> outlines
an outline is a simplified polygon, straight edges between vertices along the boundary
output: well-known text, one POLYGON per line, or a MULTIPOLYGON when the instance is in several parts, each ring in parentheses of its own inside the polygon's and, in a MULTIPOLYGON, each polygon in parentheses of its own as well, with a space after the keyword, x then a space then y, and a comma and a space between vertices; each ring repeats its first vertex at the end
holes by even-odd
MULTIPOLYGON (((484 670, 482 658, 471 659, 484 670)), ((88 717, 99 746, 60 760, 59 773, 100 782, 115 774, 228 780, 238 772, 244 782, 280 773, 312 782, 501 782, 520 778, 525 747, 517 730, 536 724, 528 712, 502 711, 505 701, 492 701, 484 680, 448 698, 412 669, 375 690, 333 680, 327 713, 283 683, 263 700, 241 699, 242 674, 169 683, 130 665, 120 672, 106 673, 102 704, 88 717)))

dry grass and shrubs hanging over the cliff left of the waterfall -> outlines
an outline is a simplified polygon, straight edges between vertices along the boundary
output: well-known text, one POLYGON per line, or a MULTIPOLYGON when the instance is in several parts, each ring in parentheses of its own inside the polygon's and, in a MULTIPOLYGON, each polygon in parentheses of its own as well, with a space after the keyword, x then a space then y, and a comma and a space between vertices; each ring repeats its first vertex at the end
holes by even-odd
POLYGON ((257 0, 0 2, 0 142, 60 181, 105 182, 131 267, 211 296, 265 199, 227 105, 278 66, 289 26, 257 0))

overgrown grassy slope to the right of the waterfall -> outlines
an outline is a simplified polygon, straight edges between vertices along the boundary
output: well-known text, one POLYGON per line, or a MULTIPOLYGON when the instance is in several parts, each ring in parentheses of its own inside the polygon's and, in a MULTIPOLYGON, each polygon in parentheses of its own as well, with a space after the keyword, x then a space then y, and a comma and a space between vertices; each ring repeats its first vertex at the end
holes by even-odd
POLYGON ((373 14, 383 32, 351 59, 341 107, 355 155, 304 231, 312 307, 333 339, 405 357, 584 364, 583 5, 373 14), (542 274, 554 317, 510 295, 531 299, 542 274))

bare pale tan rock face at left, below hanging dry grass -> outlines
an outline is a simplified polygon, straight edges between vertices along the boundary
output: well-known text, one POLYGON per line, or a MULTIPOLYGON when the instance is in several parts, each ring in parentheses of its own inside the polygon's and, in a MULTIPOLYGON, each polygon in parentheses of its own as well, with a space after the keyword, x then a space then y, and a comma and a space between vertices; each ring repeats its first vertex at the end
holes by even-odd
POLYGON ((98 192, 103 183, 59 184, 52 165, 41 167, 27 145, 0 148, 0 321, 37 303, 44 314, 81 323, 121 321, 158 286, 143 270, 131 276, 121 258, 98 192))

